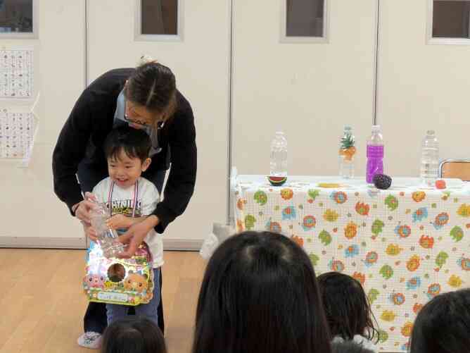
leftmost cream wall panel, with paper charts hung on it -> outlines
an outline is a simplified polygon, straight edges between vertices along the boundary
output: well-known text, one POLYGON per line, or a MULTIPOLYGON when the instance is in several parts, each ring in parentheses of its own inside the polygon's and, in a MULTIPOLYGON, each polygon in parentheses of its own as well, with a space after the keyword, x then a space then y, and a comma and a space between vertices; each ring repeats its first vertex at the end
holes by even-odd
MULTIPOLYGON (((84 2, 46 0, 38 10, 39 39, 0 39, 4 47, 34 47, 34 85, 40 92, 35 109, 39 130, 30 166, 0 161, 0 245, 23 245, 36 237, 44 238, 45 244, 67 246, 83 238, 80 223, 53 193, 51 154, 70 107, 84 88, 84 2)), ((0 101, 0 107, 6 104, 0 101)))

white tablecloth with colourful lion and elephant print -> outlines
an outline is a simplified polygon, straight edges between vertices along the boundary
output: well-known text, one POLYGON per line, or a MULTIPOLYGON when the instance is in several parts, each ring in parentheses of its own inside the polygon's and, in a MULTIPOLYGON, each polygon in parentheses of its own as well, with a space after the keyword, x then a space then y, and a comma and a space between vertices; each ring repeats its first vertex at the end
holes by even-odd
POLYGON ((406 351, 419 309, 470 285, 470 185, 436 190, 407 179, 376 190, 362 180, 334 182, 297 177, 272 187, 265 177, 239 175, 236 230, 283 233, 305 249, 317 275, 352 275, 379 323, 379 349, 406 351))

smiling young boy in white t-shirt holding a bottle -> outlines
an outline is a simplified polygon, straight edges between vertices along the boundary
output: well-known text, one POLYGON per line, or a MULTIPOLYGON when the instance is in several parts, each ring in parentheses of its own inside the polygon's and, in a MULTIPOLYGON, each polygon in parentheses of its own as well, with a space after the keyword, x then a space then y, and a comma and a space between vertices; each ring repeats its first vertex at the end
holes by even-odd
MULTIPOLYGON (((112 130, 104 144, 108 161, 109 177, 101 180, 93 189, 97 202, 106 202, 111 217, 110 228, 125 231, 134 223, 144 221, 160 200, 160 194, 152 182, 141 177, 150 166, 148 158, 151 149, 150 137, 144 130, 128 126, 112 130)), ((96 231, 84 225, 85 234, 96 241, 96 231)), ((153 259, 153 298, 148 304, 135 306, 137 316, 146 316, 157 323, 157 307, 160 302, 158 268, 163 265, 163 242, 161 235, 151 230, 145 238, 153 259)), ((106 304, 108 325, 127 316, 129 306, 106 304)))

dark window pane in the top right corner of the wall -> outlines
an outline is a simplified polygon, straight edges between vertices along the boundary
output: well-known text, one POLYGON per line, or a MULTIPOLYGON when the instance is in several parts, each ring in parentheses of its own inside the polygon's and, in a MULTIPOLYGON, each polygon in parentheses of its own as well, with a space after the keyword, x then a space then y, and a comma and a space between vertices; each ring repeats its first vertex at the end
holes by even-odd
POLYGON ((470 38, 470 1, 434 0, 433 38, 470 38))

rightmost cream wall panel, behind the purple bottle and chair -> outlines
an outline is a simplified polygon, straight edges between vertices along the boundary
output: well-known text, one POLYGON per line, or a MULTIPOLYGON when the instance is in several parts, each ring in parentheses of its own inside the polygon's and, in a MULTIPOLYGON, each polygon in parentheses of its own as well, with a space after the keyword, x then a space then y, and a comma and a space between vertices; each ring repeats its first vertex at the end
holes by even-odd
POLYGON ((419 174, 420 144, 436 130, 440 156, 469 158, 470 45, 426 43, 431 1, 381 1, 377 116, 386 173, 419 174))

